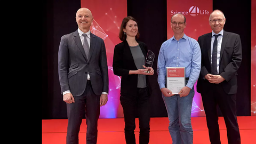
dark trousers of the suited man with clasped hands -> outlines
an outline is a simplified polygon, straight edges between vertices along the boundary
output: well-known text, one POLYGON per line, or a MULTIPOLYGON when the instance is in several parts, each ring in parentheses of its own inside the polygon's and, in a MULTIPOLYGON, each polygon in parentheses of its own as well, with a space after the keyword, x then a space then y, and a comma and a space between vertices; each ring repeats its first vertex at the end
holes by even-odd
POLYGON ((228 143, 241 143, 237 118, 236 118, 236 95, 227 94, 220 84, 211 84, 207 93, 201 93, 209 137, 212 144, 219 144, 220 130, 218 123, 217 105, 223 114, 227 127, 228 143))

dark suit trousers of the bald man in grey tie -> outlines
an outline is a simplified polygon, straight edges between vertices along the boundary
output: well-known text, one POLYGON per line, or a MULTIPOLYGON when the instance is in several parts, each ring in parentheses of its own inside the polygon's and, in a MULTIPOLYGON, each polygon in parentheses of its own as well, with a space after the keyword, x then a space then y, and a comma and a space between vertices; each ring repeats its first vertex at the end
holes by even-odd
POLYGON ((68 132, 67 144, 78 143, 78 133, 83 116, 86 116, 86 143, 97 143, 98 119, 100 116, 100 95, 95 95, 90 81, 81 96, 74 96, 75 103, 67 103, 68 132))

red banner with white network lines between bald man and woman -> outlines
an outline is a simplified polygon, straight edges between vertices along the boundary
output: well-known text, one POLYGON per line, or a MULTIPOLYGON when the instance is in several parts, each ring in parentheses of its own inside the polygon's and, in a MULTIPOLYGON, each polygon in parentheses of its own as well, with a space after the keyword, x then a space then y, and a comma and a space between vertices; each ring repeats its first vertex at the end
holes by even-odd
POLYGON ((120 104, 120 82, 121 79, 113 74, 113 54, 116 44, 121 43, 118 38, 119 27, 124 17, 127 17, 126 0, 81 0, 81 7, 91 10, 94 17, 91 32, 101 37, 106 46, 109 93, 107 105, 101 107, 100 118, 123 117, 123 108, 120 104))

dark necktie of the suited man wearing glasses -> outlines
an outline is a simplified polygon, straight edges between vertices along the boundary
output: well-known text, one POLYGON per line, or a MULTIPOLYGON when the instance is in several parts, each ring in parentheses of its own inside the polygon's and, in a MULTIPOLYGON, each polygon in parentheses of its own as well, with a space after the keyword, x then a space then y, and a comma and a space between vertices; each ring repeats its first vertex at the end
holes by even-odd
POLYGON ((213 75, 218 75, 217 71, 217 51, 218 51, 218 36, 220 35, 214 35, 215 40, 213 42, 213 49, 212 49, 212 74, 213 75))

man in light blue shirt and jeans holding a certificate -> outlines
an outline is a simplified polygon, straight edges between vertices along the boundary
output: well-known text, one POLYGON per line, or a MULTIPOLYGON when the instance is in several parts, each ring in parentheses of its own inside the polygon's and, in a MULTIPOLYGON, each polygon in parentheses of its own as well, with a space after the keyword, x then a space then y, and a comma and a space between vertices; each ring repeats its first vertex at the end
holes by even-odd
POLYGON ((201 70, 201 50, 195 39, 185 35, 186 25, 183 14, 172 16, 171 28, 174 36, 162 44, 157 63, 157 81, 163 93, 173 143, 193 143, 191 107, 195 94, 194 84, 201 70), (172 94, 165 87, 166 67, 185 67, 186 86, 179 94, 172 94))

